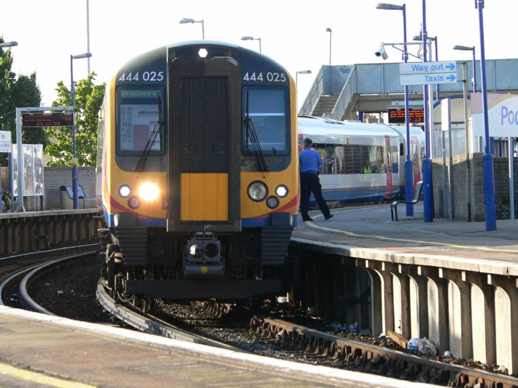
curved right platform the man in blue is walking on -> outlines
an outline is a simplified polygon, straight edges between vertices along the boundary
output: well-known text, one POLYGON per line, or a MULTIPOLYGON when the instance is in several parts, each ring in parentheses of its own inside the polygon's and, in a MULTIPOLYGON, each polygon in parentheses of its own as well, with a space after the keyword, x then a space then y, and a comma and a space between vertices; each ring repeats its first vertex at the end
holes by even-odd
POLYGON ((518 276, 518 220, 498 220, 496 230, 485 222, 434 218, 424 222, 423 204, 407 217, 405 206, 392 221, 390 204, 332 208, 324 220, 319 210, 313 221, 298 215, 292 245, 335 252, 343 256, 429 265, 455 270, 518 276))

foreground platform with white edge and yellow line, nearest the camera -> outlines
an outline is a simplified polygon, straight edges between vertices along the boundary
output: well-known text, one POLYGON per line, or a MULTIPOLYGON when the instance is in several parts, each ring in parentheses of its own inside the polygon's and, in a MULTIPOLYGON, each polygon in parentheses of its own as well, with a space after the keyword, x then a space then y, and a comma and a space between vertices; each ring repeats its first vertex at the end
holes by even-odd
POLYGON ((0 386, 430 387, 5 306, 0 344, 0 386))

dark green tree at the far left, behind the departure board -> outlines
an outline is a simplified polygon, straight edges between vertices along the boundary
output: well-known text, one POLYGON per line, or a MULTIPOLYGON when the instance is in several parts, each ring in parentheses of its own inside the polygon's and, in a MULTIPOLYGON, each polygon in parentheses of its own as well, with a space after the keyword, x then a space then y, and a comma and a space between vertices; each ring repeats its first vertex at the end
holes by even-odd
MULTIPOLYGON (((0 42, 3 42, 0 37, 0 42)), ((39 107, 41 92, 36 83, 36 72, 30 76, 11 71, 13 57, 11 50, 0 49, 0 130, 11 131, 11 140, 16 142, 16 108, 39 107)), ((22 131, 22 142, 25 144, 47 143, 43 128, 31 128, 22 131)), ((0 155, 0 166, 7 166, 8 154, 0 155)))

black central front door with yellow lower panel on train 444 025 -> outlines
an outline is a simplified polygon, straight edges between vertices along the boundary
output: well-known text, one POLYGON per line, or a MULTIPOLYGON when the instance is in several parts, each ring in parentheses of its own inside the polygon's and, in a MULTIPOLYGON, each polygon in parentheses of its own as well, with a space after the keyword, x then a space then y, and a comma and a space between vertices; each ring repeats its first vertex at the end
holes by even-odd
POLYGON ((240 68, 169 51, 167 230, 241 230, 240 68))

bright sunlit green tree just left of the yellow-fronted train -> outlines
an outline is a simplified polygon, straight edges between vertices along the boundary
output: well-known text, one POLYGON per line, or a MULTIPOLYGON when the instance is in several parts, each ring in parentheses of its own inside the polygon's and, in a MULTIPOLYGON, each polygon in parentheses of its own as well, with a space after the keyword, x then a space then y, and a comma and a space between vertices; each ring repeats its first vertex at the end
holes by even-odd
MULTIPOLYGON (((95 166, 97 157, 97 115, 104 98, 106 84, 94 85, 95 72, 87 79, 74 82, 74 110, 76 112, 76 157, 78 166, 95 166)), ((57 100, 53 107, 71 106, 70 90, 63 81, 57 83, 57 100)), ((70 166, 73 159, 72 127, 47 127, 47 136, 51 138, 46 154, 54 160, 49 166, 70 166)))

